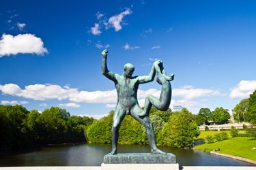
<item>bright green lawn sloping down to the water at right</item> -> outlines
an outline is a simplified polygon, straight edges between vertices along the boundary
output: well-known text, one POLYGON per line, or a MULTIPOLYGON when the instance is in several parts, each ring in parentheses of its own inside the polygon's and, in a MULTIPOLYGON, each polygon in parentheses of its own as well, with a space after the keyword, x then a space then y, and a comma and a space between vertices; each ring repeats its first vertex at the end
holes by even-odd
POLYGON ((224 141, 195 146, 194 149, 210 152, 220 148, 221 151, 219 151, 219 153, 221 154, 229 154, 256 160, 256 150, 252 150, 254 147, 256 147, 256 139, 253 139, 252 137, 234 137, 224 141))

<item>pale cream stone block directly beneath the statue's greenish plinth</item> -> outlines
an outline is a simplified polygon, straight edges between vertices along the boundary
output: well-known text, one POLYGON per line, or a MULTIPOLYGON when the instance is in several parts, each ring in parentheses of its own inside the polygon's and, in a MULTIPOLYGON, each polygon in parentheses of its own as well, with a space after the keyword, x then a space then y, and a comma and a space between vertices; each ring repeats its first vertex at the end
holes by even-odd
POLYGON ((162 163, 162 164, 104 164, 101 165, 101 170, 179 170, 177 163, 162 163))

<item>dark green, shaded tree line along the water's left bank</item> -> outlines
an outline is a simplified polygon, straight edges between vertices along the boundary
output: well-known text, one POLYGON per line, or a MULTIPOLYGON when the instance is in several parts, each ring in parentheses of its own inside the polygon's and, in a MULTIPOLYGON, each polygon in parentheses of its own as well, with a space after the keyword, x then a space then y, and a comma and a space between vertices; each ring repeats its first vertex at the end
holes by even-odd
POLYGON ((86 141, 85 131, 93 122, 94 118, 70 116, 59 107, 44 109, 40 114, 22 105, 0 105, 0 151, 86 141))

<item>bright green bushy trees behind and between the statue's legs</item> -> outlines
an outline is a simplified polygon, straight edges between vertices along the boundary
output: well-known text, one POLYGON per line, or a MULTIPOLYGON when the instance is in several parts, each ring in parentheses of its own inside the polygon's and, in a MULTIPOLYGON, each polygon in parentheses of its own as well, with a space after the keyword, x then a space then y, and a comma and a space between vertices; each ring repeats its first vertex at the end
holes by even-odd
MULTIPOLYGON (((111 143, 111 127, 113 111, 108 116, 94 121, 86 131, 87 140, 93 143, 111 143)), ((193 139, 200 135, 195 116, 183 108, 180 112, 161 112, 152 107, 150 119, 154 124, 156 143, 158 146, 173 146, 176 148, 191 148, 193 139)), ((121 144, 148 144, 145 127, 126 116, 119 129, 121 144)))

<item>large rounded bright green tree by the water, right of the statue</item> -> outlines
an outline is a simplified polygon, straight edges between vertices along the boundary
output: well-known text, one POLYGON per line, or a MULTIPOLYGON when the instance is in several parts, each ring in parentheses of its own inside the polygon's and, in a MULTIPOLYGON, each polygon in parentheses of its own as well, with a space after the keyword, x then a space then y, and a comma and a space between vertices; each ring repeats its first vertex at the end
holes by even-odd
POLYGON ((158 135, 158 144, 176 148, 190 148, 193 139, 199 136, 199 127, 193 114, 183 108, 181 112, 173 112, 169 121, 163 126, 158 135))

